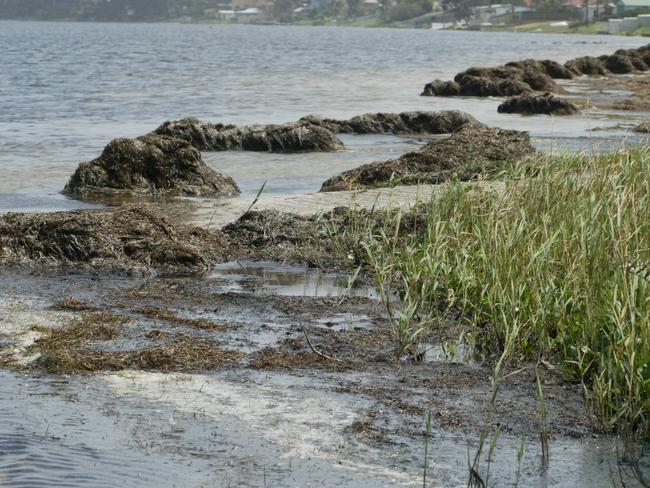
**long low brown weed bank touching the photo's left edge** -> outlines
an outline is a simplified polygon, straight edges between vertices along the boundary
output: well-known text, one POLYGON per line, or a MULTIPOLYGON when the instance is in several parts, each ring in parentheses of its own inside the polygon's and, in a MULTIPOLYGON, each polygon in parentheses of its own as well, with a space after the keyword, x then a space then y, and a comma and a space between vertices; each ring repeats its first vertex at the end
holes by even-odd
POLYGON ((0 265, 203 268, 220 251, 214 234, 172 226, 151 206, 0 217, 0 265))

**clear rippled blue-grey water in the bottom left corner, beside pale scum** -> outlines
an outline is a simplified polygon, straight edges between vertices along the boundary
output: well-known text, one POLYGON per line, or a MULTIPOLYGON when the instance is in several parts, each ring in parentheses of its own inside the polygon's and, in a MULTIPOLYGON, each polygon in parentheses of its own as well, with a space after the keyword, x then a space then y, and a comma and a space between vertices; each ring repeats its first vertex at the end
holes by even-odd
POLYGON ((2 487, 153 488, 206 482, 206 463, 166 452, 147 430, 145 421, 155 425, 157 434, 166 425, 169 430, 168 412, 143 418, 135 410, 112 411, 105 392, 83 382, 10 372, 0 372, 0 382, 2 487), (188 461, 194 468, 187 467, 188 461))

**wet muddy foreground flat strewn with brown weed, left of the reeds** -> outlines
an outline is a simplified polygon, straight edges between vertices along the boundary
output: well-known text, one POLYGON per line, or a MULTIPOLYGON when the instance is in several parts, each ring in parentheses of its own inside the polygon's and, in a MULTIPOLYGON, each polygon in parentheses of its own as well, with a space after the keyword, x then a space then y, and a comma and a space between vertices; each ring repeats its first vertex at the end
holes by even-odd
MULTIPOLYGON (((251 263, 144 280, 4 269, 0 283, 9 367, 0 374, 13 385, 0 402, 31 425, 24 429, 13 414, 2 424, 0 438, 11 446, 0 459, 6 486, 39 478, 81 486, 104 475, 99 486, 223 479, 420 486, 428 409, 430 486, 466 485, 467 447, 477 446, 491 369, 455 358, 452 335, 430 338, 432 347, 444 341, 447 355, 396 358, 372 287, 347 293, 344 275, 251 263), (98 327, 107 318, 110 334, 98 327), (79 321, 96 333, 66 336, 79 321), (19 339, 30 331, 39 337, 19 339), (45 347, 57 334, 59 349, 45 347), (231 360, 173 361, 182 357, 179 341, 217 344, 213 352, 231 360), (165 347, 174 354, 146 352, 165 347), (37 379, 43 371, 68 375, 37 379)), ((531 434, 538 429, 534 378, 514 374, 502 388, 495 484, 517 478, 523 434, 522 483, 611 486, 616 443, 591 435, 577 386, 544 373, 552 433, 545 472, 536 468, 531 434)))

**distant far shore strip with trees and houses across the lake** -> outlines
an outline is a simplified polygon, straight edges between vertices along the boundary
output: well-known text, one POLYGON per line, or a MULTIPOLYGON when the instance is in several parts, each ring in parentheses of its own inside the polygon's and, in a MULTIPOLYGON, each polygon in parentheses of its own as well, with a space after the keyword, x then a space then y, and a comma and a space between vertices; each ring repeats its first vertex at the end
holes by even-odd
POLYGON ((608 19, 643 14, 603 6, 585 20, 584 5, 547 2, 492 5, 483 0, 0 0, 0 20, 53 22, 183 23, 201 25, 297 25, 363 28, 481 30, 484 32, 650 36, 639 23, 624 31, 608 29, 608 19))

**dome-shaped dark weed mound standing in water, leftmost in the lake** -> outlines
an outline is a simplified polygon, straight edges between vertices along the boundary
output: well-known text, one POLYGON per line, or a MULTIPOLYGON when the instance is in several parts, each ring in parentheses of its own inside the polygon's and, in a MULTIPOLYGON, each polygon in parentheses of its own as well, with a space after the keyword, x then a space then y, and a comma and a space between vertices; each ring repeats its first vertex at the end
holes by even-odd
POLYGON ((232 178, 208 167, 190 143, 147 135, 115 139, 101 156, 79 165, 63 193, 84 199, 105 195, 216 196, 239 193, 232 178))

